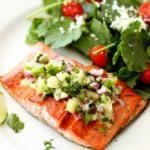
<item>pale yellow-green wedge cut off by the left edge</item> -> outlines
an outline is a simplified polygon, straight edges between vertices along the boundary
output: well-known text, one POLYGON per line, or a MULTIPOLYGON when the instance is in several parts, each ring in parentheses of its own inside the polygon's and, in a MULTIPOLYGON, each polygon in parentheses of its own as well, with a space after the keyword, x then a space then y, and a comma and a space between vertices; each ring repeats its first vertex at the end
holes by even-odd
POLYGON ((7 118, 7 109, 4 103, 3 94, 0 92, 0 125, 5 122, 7 118))

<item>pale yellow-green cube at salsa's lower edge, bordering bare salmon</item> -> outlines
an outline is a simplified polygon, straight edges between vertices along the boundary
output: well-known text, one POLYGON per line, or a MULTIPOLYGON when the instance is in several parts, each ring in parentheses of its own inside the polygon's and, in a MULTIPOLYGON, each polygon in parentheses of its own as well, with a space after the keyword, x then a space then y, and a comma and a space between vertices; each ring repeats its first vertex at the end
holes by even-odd
POLYGON ((70 113, 74 113, 78 105, 79 105, 79 100, 77 98, 69 99, 66 110, 70 113))

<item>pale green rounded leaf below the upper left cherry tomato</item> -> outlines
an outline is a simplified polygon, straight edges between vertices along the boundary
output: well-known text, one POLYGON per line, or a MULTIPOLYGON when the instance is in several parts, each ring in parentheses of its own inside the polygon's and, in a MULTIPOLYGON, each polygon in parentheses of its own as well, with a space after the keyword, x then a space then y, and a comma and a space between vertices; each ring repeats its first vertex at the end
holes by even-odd
POLYGON ((69 30, 71 24, 74 24, 74 22, 66 18, 63 21, 54 23, 45 36, 45 43, 53 48, 59 48, 77 41, 81 37, 81 29, 74 28, 69 30), (61 33, 60 29, 63 29, 64 32, 61 33))

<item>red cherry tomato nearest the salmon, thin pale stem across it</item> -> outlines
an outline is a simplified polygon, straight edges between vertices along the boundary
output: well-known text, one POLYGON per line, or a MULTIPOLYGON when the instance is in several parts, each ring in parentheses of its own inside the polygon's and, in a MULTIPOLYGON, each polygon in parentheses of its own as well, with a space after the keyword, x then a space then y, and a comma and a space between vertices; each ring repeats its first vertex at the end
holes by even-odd
POLYGON ((104 48, 105 46, 103 45, 97 45, 94 46, 89 53, 91 60, 100 67, 105 67, 107 65, 107 50, 104 48), (98 50, 100 51, 98 52, 98 50), (97 53, 94 54, 94 52, 97 53))

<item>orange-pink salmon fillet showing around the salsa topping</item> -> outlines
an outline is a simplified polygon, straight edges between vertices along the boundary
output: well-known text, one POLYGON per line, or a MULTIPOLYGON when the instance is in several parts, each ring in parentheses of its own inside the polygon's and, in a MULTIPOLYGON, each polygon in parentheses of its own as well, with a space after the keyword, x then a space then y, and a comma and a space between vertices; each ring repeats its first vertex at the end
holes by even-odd
MULTIPOLYGON (((49 59, 56 59, 58 57, 52 49, 42 43, 38 43, 36 49, 47 53, 49 59)), ((33 51, 26 60, 31 60, 35 53, 37 52, 33 51)), ((68 58, 62 57, 62 59, 64 61, 70 61, 86 71, 95 68, 94 66, 84 66, 68 58)), ((137 93, 119 80, 117 84, 122 87, 120 98, 125 105, 113 106, 114 123, 106 132, 102 133, 99 131, 102 127, 100 121, 93 121, 89 124, 85 124, 76 114, 71 114, 66 111, 67 100, 56 101, 52 96, 42 100, 34 89, 20 85, 20 81, 23 78, 23 63, 20 63, 12 71, 1 76, 0 81, 12 97, 28 112, 44 121, 50 127, 53 127, 56 131, 73 142, 96 150, 106 148, 113 137, 140 114, 147 105, 146 100, 143 100, 137 93)))

